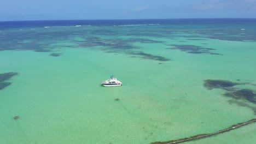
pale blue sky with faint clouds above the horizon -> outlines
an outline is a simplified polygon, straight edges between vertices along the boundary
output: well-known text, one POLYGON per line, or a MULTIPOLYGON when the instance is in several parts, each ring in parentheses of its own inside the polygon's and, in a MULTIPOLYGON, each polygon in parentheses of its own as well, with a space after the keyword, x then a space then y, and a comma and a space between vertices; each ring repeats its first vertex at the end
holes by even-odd
POLYGON ((256 18, 256 0, 8 0, 0 21, 256 18))

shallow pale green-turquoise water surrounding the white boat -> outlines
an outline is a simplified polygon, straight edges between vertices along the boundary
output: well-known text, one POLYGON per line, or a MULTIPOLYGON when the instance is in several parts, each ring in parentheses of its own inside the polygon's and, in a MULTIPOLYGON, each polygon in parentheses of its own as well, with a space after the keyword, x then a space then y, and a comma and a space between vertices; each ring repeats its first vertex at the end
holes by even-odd
MULTIPOLYGON (((0 51, 0 73, 19 73, 0 91, 1 143, 150 143, 212 133, 255 118, 255 104, 243 99, 235 101, 247 106, 230 103, 234 99, 224 97, 225 90, 208 90, 203 82, 239 79, 248 84, 235 87, 256 91, 256 42, 185 43, 207 43, 223 56, 165 49, 166 44, 183 44, 182 39, 133 44, 170 59, 161 62, 108 53, 101 46, 63 46, 74 45, 74 39, 79 37, 51 45, 59 57, 49 56, 53 52, 0 51), (122 87, 100 85, 112 74, 122 87)), ((254 143, 255 129, 250 124, 185 143, 254 143)))

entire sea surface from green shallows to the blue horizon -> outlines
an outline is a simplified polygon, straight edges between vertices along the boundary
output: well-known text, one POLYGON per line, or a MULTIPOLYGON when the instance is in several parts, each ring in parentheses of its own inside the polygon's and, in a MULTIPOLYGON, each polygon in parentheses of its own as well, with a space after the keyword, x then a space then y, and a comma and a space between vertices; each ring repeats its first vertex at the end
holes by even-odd
MULTIPOLYGON (((18 75, 0 90, 0 143, 150 143, 255 118, 255 20, 86 22, 1 23, 0 74, 18 75), (101 86, 112 74, 122 87, 101 86)), ((255 128, 187 143, 253 143, 255 128)))

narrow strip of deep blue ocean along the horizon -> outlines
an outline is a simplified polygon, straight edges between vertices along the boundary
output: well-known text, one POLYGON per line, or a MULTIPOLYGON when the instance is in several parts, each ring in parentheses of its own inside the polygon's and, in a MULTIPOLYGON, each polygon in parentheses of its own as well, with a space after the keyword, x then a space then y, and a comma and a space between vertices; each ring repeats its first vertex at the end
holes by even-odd
POLYGON ((119 25, 171 25, 191 27, 230 27, 232 25, 256 25, 256 19, 142 19, 142 20, 45 20, 0 21, 0 30, 8 28, 31 28, 48 26, 119 26, 119 25))

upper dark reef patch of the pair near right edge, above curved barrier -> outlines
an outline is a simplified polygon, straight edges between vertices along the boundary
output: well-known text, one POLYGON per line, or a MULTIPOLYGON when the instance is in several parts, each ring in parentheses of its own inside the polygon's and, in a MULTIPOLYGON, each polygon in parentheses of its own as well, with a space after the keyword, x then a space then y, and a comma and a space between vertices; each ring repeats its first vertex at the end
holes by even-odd
POLYGON ((203 83, 203 86, 210 90, 213 88, 226 89, 226 87, 232 87, 236 85, 242 85, 242 83, 231 82, 226 80, 205 80, 205 83, 203 83))

